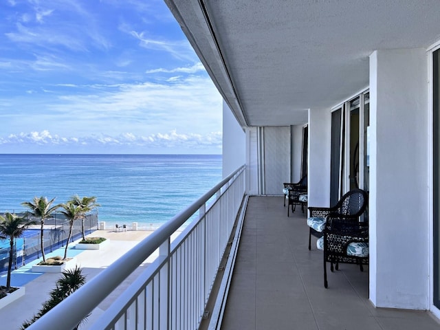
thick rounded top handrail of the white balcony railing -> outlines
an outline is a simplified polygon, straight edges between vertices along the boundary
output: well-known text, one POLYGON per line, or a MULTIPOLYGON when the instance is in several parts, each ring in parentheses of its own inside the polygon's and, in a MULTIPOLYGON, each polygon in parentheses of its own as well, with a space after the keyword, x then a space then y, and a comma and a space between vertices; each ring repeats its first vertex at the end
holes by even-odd
POLYGON ((56 305, 47 314, 36 320, 28 329, 73 329, 87 317, 104 298, 125 280, 137 267, 159 248, 172 234, 174 234, 203 204, 214 196, 236 174, 241 173, 245 166, 241 166, 233 173, 221 180, 219 184, 206 192, 188 208, 179 212, 172 219, 161 225, 152 234, 140 241, 134 248, 126 252, 120 259, 102 270, 97 276, 85 283, 74 294, 56 305), (92 293, 92 294, 91 294, 92 293), (74 310, 74 312, 72 312, 74 310))

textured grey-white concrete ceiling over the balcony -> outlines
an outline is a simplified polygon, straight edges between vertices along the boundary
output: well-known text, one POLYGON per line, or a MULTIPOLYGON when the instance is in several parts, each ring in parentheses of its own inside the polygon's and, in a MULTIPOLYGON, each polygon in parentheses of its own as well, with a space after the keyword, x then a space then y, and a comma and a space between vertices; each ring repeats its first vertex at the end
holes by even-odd
POLYGON ((374 50, 440 39, 439 0, 165 2, 242 126, 304 124, 369 86, 374 50))

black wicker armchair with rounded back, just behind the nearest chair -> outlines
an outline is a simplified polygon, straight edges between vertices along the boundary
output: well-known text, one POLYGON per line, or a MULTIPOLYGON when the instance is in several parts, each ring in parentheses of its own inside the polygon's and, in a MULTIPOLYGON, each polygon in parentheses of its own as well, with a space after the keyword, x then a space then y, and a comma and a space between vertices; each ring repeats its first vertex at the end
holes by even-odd
POLYGON ((366 208, 367 195, 362 189, 353 189, 347 192, 341 199, 331 208, 316 208, 309 206, 309 250, 311 250, 311 235, 316 237, 322 236, 322 231, 327 222, 327 216, 330 213, 340 215, 349 215, 351 217, 360 217, 366 208))

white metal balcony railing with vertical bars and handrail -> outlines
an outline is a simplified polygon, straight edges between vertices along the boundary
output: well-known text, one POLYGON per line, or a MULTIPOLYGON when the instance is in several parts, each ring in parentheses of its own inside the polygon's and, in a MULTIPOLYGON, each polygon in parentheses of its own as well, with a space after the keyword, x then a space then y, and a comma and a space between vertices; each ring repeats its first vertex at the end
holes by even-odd
POLYGON ((243 201, 244 168, 223 179, 28 329, 73 329, 157 249, 155 261, 90 329, 197 329, 243 201), (171 235, 197 212, 198 218, 171 241, 171 235))

